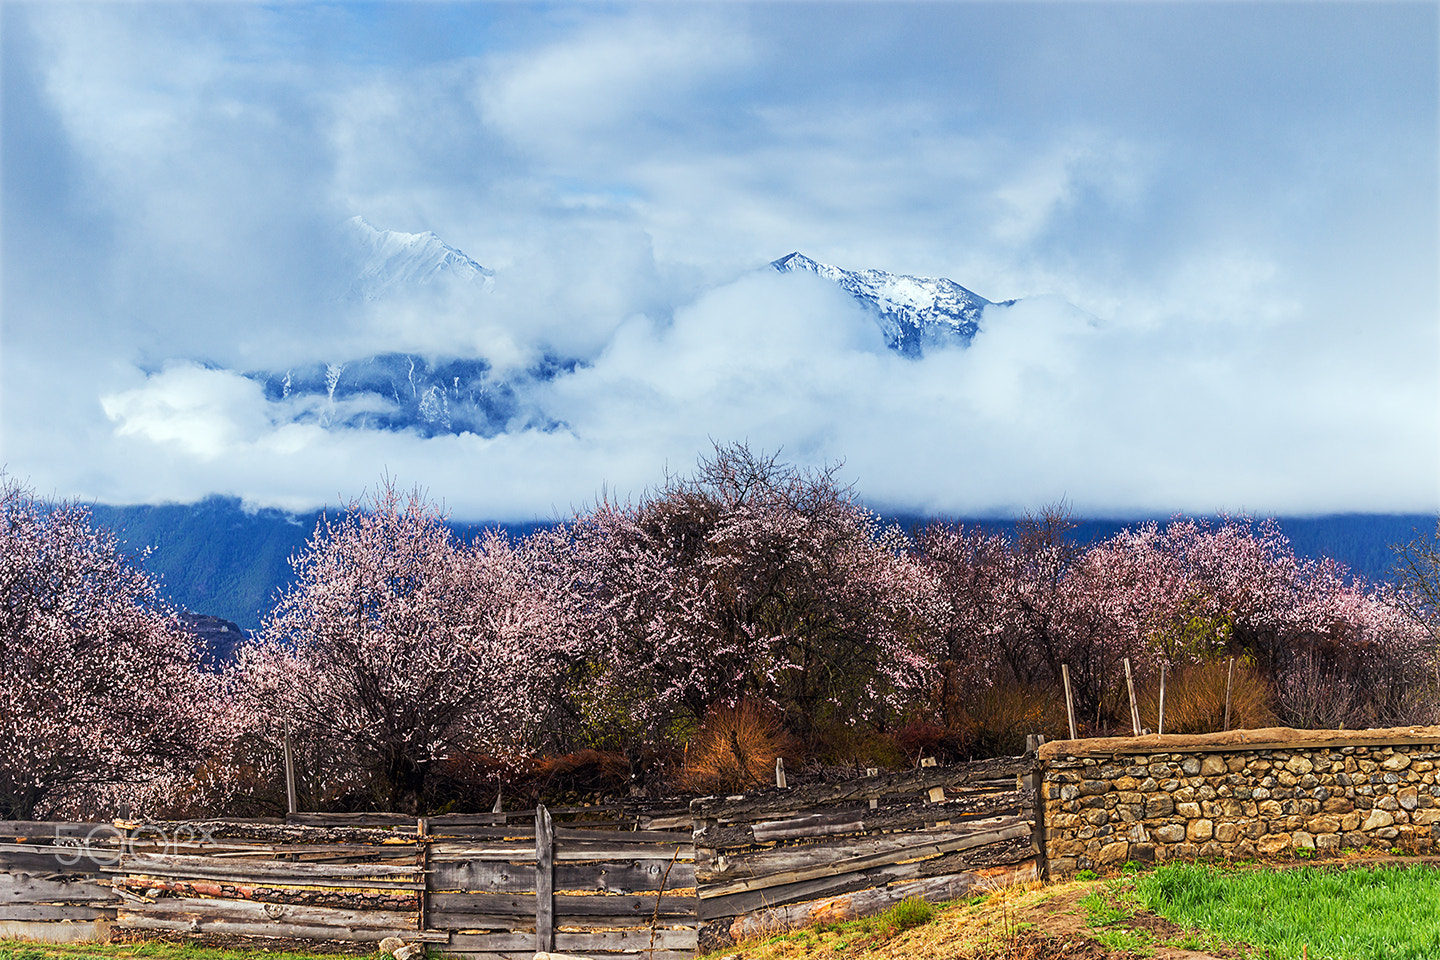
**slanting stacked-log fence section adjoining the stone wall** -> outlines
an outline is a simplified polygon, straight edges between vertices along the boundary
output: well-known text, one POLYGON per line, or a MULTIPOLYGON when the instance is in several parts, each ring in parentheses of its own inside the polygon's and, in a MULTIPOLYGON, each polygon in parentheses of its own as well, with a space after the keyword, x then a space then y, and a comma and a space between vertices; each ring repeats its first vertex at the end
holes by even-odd
POLYGON ((691 803, 701 946, 1038 878, 1031 756, 691 803))

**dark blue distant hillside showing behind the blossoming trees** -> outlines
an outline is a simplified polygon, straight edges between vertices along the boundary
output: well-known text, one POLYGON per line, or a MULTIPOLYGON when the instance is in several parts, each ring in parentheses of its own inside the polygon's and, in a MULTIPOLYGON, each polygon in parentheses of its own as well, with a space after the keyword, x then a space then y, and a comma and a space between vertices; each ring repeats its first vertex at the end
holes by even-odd
MULTIPOLYGON (((199 504, 158 507, 95 505, 96 522, 117 531, 127 548, 151 548, 144 566, 179 607, 233 620, 246 630, 259 628, 276 593, 291 583, 291 556, 305 547, 318 512, 287 514, 278 510, 246 511, 239 499, 212 497, 199 504)), ((906 528, 922 522, 896 517, 906 528)), ((972 521, 968 521, 972 522, 972 521)), ((973 521, 1009 531, 1012 521, 973 521)), ((1074 531, 1084 543, 1109 537, 1136 521, 1089 520, 1074 531)), ((1335 557, 1368 580, 1385 580, 1394 556, 1390 544, 1434 530, 1426 514, 1338 514, 1282 518, 1296 553, 1335 557)), ((526 535, 533 524, 451 524, 464 540, 485 527, 526 535)))

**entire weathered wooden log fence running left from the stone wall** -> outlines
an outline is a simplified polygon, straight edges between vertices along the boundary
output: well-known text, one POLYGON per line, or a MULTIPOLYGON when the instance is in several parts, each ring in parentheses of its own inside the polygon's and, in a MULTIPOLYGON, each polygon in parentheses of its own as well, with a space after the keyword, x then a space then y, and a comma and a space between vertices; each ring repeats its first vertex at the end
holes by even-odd
POLYGON ((1032 794, 1017 789, 1031 770, 1027 756, 688 806, 420 820, 0 823, 0 931, 81 938, 114 923, 393 936, 472 960, 680 960, 906 897, 1034 878, 1032 794))

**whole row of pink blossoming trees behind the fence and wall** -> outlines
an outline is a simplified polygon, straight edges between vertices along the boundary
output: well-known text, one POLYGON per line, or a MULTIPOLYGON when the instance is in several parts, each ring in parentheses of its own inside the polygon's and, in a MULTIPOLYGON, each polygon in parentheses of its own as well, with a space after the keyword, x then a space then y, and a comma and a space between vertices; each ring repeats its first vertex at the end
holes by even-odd
POLYGON ((1372 587, 1272 521, 903 531, 835 469, 717 446, 516 540, 384 484, 207 672, 84 510, 0 494, 9 818, 284 812, 287 740, 307 809, 406 812, 1014 753, 1067 735, 1063 671, 1081 735, 1128 731, 1125 661, 1142 712, 1168 674, 1175 731, 1215 727, 1231 662, 1237 724, 1440 720, 1426 541, 1372 587))

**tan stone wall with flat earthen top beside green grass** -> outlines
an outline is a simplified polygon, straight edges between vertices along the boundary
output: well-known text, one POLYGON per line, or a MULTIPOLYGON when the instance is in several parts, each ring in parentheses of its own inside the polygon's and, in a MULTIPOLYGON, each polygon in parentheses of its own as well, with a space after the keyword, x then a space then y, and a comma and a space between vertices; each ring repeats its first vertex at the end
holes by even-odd
POLYGON ((1040 763, 1051 877, 1440 838, 1440 727, 1070 740, 1040 763))

